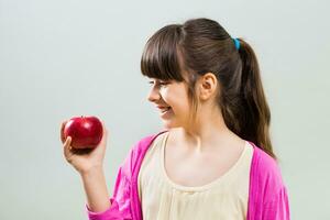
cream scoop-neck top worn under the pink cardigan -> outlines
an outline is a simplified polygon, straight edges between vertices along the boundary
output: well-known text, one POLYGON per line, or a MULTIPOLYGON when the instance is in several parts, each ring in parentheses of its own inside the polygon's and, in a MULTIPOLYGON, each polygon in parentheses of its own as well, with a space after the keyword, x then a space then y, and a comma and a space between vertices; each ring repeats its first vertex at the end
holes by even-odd
POLYGON ((253 147, 245 141, 235 164, 216 180, 197 187, 169 179, 164 148, 169 132, 147 150, 139 173, 139 197, 144 220, 242 220, 246 219, 250 166, 253 147))

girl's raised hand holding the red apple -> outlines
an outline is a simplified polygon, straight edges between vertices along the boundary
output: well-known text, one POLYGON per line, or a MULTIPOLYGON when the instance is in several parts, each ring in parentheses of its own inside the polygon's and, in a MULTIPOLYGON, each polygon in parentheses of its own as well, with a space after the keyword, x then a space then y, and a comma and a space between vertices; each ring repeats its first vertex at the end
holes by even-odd
POLYGON ((102 169, 103 158, 106 154, 108 131, 102 122, 103 135, 102 140, 95 148, 74 148, 72 138, 67 136, 65 140, 63 131, 67 121, 62 122, 61 125, 61 141, 63 143, 64 156, 66 161, 74 166, 80 174, 90 172, 91 169, 102 169))

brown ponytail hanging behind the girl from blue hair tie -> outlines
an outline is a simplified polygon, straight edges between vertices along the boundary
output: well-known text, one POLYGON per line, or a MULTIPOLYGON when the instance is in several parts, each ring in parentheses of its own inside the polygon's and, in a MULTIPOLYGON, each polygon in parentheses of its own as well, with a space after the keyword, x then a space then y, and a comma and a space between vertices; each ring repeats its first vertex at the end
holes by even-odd
POLYGON ((244 120, 240 123, 241 138, 255 143, 270 156, 276 160, 270 138, 271 111, 267 105, 260 68, 252 47, 239 38, 239 54, 242 62, 241 95, 244 120))

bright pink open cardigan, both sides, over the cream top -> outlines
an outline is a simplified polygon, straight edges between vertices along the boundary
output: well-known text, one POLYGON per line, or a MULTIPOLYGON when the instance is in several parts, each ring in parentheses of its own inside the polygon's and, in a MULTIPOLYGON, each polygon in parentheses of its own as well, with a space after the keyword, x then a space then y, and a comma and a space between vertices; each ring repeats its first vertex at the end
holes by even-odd
MULTIPOLYGON (((90 220, 142 220, 141 201, 138 194, 138 175, 143 157, 153 140, 146 136, 138 142, 120 166, 111 207, 103 212, 92 212, 86 206, 90 220)), ((289 220, 289 202, 280 170, 275 160, 254 143, 250 172, 250 190, 246 220, 289 220)))

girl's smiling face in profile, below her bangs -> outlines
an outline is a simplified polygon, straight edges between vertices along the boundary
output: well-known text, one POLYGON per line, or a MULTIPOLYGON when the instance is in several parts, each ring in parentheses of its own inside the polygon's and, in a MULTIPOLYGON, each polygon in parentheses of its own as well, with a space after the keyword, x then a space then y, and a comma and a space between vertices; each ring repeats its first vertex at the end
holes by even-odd
POLYGON ((151 79, 152 85, 148 101, 160 111, 165 128, 183 127, 189 116, 189 100, 187 85, 174 80, 164 81, 151 79))

